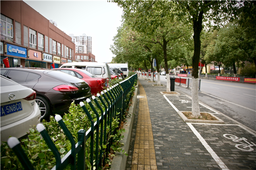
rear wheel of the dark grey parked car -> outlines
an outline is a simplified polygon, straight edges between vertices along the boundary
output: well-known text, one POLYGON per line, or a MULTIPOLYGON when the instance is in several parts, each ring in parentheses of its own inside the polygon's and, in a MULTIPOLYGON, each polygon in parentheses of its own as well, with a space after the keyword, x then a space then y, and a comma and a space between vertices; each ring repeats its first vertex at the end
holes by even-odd
POLYGON ((47 119, 51 115, 51 110, 50 110, 50 105, 47 99, 41 97, 41 96, 36 96, 35 102, 37 103, 40 112, 41 112, 41 121, 43 119, 47 119))

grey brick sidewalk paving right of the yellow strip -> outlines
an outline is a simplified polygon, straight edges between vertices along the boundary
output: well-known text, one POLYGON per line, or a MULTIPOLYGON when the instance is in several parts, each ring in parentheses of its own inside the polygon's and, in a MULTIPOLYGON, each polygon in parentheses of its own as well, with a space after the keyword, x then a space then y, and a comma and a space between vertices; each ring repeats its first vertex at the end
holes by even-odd
MULTIPOLYGON (((209 151, 195 136, 194 132, 189 128, 188 124, 183 122, 177 112, 169 105, 167 100, 160 93, 166 91, 166 87, 154 87, 148 83, 148 80, 139 78, 143 89, 146 92, 148 100, 148 108, 152 124, 154 137, 156 165, 158 170, 219 170, 220 164, 211 156, 209 151)), ((142 88, 142 87, 141 87, 142 88)), ((141 90, 140 88, 140 90, 141 90)), ((167 97, 170 100, 171 97, 167 97)), ((177 98, 177 97, 175 97, 177 98)), ((186 98, 184 98, 186 99, 186 98)), ((139 99, 139 108, 141 108, 141 98, 139 99)), ((178 100, 180 101, 180 100, 178 100)), ((172 101, 179 109, 182 104, 172 101)), ((189 105, 183 105, 183 107, 189 105)), ((136 111, 135 118, 139 114, 136 111)), ((221 116, 221 115, 216 115, 221 116)), ((225 120, 226 122, 226 120, 225 120)), ((225 170, 254 170, 256 168, 256 151, 244 152, 238 150, 235 145, 237 142, 229 138, 223 137, 223 134, 232 134, 237 137, 245 137, 248 142, 254 142, 255 137, 248 133, 245 129, 237 126, 234 122, 226 122, 227 124, 193 124, 195 130, 205 139, 209 147, 222 160, 227 168, 225 170)), ((136 127, 136 125, 135 125, 136 127)), ((133 135, 134 131, 133 131, 133 135)), ((255 146, 252 148, 255 149, 255 146)), ((133 147, 131 147, 133 150, 133 147)), ((135 149, 134 149, 135 150, 135 149)), ((131 153, 135 153, 134 151, 131 153)), ((130 154, 130 153, 129 153, 130 154)), ((129 162, 132 163, 129 155, 129 162)), ((145 168, 145 167, 138 167, 145 168)), ((222 170, 224 170, 222 169, 222 170)))

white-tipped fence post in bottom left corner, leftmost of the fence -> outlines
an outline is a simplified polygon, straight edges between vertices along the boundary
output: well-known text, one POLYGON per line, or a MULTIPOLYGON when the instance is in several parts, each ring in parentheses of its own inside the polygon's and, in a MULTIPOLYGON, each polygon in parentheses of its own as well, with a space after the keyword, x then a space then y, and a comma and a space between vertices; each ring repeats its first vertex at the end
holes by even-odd
POLYGON ((17 137, 8 138, 7 144, 13 150, 15 155, 18 157, 18 159, 20 160, 20 163, 22 164, 25 170, 34 170, 34 167, 32 166, 31 162, 28 160, 27 155, 25 154, 24 150, 21 148, 20 141, 17 139, 17 137))

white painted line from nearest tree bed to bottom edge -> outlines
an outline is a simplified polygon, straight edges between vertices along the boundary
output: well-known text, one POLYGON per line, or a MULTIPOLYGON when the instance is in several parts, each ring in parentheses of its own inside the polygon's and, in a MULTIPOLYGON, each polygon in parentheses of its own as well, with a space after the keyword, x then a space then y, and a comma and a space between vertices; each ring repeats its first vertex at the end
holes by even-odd
POLYGON ((222 162, 222 160, 217 156, 217 154, 215 153, 215 151, 213 151, 211 149, 211 147, 209 146, 209 144, 207 144, 207 142, 204 140, 204 138, 200 135, 200 133, 198 133, 198 131, 196 131, 195 127, 191 124, 191 123, 187 123, 190 127, 190 129, 194 132, 195 136, 200 140, 200 142, 202 143, 202 145, 205 147, 205 149, 211 154, 211 156, 213 157, 213 159, 216 161, 216 163, 218 163, 219 167, 222 170, 229 170, 229 168, 225 165, 225 163, 222 162))

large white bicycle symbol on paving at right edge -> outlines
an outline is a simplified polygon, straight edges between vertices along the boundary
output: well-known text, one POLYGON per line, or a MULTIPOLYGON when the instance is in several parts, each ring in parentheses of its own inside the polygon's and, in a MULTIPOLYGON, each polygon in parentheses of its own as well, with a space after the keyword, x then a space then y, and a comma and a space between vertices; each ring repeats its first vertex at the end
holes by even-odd
POLYGON ((253 142, 249 143, 247 141, 247 139, 244 138, 244 137, 239 138, 235 135, 230 135, 230 134, 224 134, 223 136, 228 138, 228 139, 233 140, 234 142, 239 142, 240 144, 236 144, 236 148, 240 149, 240 150, 243 150, 243 151, 252 151, 253 148, 251 148, 251 147, 256 146, 256 144, 254 144, 253 142), (240 141, 244 141, 246 143, 243 143, 243 142, 240 142, 240 141))

